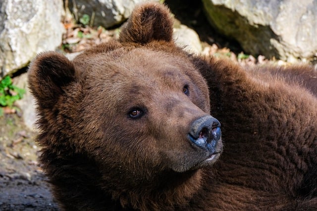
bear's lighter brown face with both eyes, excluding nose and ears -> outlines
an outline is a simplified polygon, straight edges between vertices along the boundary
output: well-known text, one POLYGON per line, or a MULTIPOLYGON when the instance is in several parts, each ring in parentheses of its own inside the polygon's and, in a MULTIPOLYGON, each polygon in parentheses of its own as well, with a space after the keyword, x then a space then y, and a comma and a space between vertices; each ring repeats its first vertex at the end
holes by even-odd
POLYGON ((82 76, 85 78, 82 89, 89 91, 84 93, 85 104, 77 106, 94 105, 92 110, 81 112, 82 120, 91 122, 81 130, 101 131, 102 136, 95 139, 102 141, 93 143, 105 154, 101 159, 115 152, 115 148, 119 151, 127 148, 124 157, 119 159, 124 161, 120 166, 136 165, 126 163, 129 158, 141 165, 146 156, 149 159, 141 169, 160 169, 167 165, 168 169, 182 172, 203 165, 200 163, 210 157, 210 153, 221 152, 221 141, 211 151, 198 152, 188 141, 191 123, 209 115, 210 107, 207 85, 202 83, 204 79, 190 62, 148 49, 126 52, 124 47, 104 57, 111 58, 110 62, 90 59, 89 71, 82 76), (136 56, 139 59, 131 62, 136 56), (140 160, 136 151, 144 151, 140 160))

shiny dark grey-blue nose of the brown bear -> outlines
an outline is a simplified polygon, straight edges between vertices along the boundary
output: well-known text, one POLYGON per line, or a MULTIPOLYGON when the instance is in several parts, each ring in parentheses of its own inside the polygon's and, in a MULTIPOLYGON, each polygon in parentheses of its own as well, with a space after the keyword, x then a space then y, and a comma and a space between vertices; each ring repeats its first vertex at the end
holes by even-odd
POLYGON ((196 146, 214 152, 221 137, 220 123, 210 115, 200 117, 191 124, 188 137, 196 146))

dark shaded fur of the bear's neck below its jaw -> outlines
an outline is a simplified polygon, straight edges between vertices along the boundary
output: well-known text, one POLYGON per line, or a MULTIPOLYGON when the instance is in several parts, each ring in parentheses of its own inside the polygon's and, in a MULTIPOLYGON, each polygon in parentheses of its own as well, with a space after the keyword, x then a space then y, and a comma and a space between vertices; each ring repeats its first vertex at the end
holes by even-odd
POLYGON ((169 170, 146 180, 134 177, 132 185, 129 179, 113 183, 113 175, 105 178, 98 165, 86 156, 68 154, 67 159, 58 157, 44 148, 40 161, 53 184, 55 198, 65 204, 66 210, 96 207, 115 210, 181 210, 188 207, 191 198, 197 196, 204 183, 204 169, 182 173, 169 170), (117 185, 113 187, 109 184, 117 185), (74 194, 72 187, 80 188, 74 194), (78 201, 83 204, 73 207, 78 201))

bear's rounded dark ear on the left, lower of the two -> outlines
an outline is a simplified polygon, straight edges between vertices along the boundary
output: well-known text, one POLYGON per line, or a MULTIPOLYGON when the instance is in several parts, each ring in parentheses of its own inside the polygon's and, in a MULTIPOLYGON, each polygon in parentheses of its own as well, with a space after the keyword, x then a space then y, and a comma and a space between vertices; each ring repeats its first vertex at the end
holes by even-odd
POLYGON ((75 68, 64 55, 39 54, 30 64, 28 83, 38 106, 52 108, 68 84, 75 81, 75 68))

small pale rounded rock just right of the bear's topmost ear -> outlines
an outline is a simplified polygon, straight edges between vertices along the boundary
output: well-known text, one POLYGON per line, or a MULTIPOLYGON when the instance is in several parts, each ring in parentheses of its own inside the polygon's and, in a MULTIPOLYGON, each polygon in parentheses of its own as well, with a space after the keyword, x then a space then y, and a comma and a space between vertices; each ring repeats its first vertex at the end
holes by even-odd
POLYGON ((188 52, 198 54, 203 50, 198 34, 185 25, 174 28, 173 37, 176 44, 188 52))

